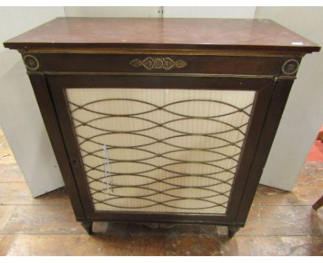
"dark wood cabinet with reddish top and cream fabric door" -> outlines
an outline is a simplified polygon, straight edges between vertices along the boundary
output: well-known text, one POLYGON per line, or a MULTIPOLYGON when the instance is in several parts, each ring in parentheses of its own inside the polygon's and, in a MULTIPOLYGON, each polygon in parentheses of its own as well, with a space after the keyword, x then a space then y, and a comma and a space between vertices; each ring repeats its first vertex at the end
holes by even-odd
MULTIPOLYGON (((76 219, 243 227, 300 61, 268 20, 59 18, 23 56, 76 219)), ((63 222, 62 222, 63 224, 63 222)))

